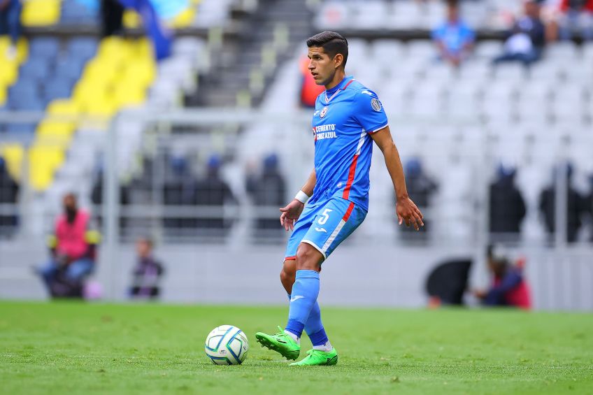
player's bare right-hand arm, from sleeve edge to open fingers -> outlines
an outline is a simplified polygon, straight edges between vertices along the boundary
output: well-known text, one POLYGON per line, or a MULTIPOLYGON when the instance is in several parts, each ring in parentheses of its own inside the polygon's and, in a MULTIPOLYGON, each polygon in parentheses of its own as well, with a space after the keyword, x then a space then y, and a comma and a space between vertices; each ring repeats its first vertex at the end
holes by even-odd
POLYGON ((424 227, 422 213, 408 196, 403 166, 401 166, 399 152, 391 136, 389 126, 371 134, 371 138, 383 152, 383 157, 385 157, 385 165, 387 165, 387 171, 390 173, 397 199, 395 211, 399 224, 406 222, 406 226, 413 225, 417 231, 420 230, 420 227, 424 227))

